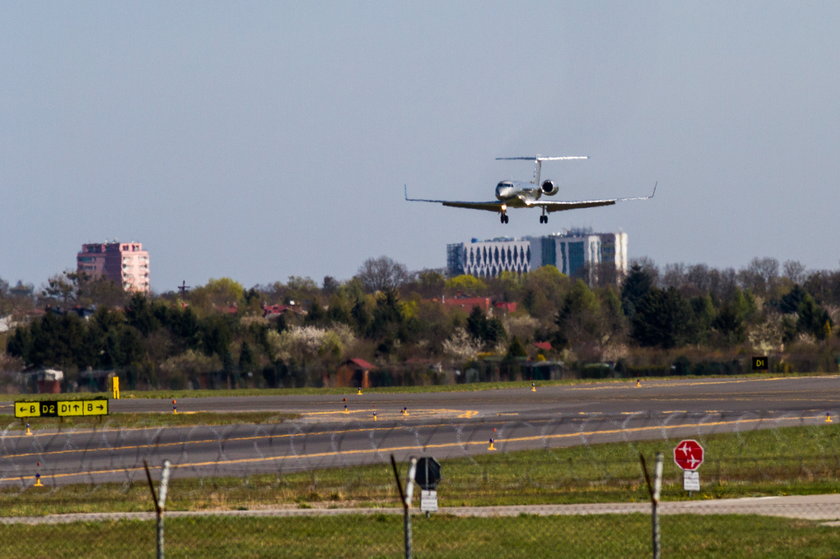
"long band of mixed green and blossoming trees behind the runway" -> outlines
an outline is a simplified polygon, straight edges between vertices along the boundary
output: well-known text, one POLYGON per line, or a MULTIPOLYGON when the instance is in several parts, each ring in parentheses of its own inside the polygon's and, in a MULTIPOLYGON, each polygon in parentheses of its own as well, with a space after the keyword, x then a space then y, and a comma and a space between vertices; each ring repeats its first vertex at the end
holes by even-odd
POLYGON ((347 281, 293 276, 246 289, 221 278, 149 296, 65 273, 37 293, 0 280, 0 317, 14 324, 0 369, 60 368, 71 382, 113 370, 130 387, 172 388, 319 385, 352 357, 421 377, 487 359, 704 372, 759 353, 777 354, 779 367, 836 370, 838 309, 840 272, 772 258, 737 271, 643 259, 620 283, 590 286, 554 267, 447 278, 380 257, 347 281), (453 304, 463 297, 491 304, 453 304))

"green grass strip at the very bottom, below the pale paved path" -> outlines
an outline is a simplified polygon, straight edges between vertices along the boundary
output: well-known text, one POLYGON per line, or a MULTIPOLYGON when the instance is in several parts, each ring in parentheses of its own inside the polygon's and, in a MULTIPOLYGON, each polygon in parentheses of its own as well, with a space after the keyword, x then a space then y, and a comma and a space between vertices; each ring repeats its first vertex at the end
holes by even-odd
MULTIPOLYGON (((413 518, 416 557, 439 559, 650 557, 650 518, 579 516, 413 518)), ((37 559, 152 557, 153 521, 0 526, 0 556, 37 559)), ((168 558, 401 558, 399 515, 310 518, 167 518, 168 558)), ((662 556, 693 559, 836 557, 840 530, 754 516, 666 516, 662 556)))

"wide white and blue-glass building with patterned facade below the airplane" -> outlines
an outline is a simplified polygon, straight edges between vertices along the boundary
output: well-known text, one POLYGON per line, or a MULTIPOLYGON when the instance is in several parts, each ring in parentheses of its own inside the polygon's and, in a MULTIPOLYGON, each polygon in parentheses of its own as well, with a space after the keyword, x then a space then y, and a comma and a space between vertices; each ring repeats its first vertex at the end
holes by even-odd
POLYGON ((570 230, 544 237, 522 239, 472 239, 447 245, 447 272, 479 278, 502 272, 527 273, 542 266, 555 266, 571 277, 590 284, 623 277, 627 273, 627 233, 593 233, 570 230))

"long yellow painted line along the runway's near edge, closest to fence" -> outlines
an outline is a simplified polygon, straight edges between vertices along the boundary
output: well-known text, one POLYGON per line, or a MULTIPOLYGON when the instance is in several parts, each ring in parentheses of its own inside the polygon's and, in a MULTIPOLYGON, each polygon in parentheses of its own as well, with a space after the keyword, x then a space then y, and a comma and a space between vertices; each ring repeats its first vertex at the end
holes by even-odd
MULTIPOLYGON (((802 417, 780 417, 776 418, 775 421, 802 421, 806 419, 819 419, 822 420, 824 416, 802 416, 802 417)), ((628 433, 628 432, 646 432, 646 431, 658 431, 658 430, 675 430, 675 429, 687 429, 687 428, 700 428, 700 427, 719 427, 723 425, 731 425, 735 423, 760 423, 763 421, 767 421, 766 418, 756 418, 756 419, 739 419, 737 421, 716 421, 710 423, 683 423, 680 425, 649 425, 645 427, 632 427, 629 429, 605 429, 600 431, 587 431, 587 432, 578 432, 578 433, 558 433, 554 435, 534 435, 528 437, 514 437, 508 439, 495 439, 495 442, 498 444, 502 443, 520 443, 520 442, 532 442, 532 441, 545 441, 545 440, 558 440, 558 439, 570 439, 574 437, 592 437, 596 435, 615 435, 620 433, 628 433)), ((378 430, 378 429, 374 429, 378 430)), ((303 435, 296 434, 296 435, 303 435)), ((290 435, 284 435, 290 436, 290 435)), ((246 437, 245 439, 249 438, 258 438, 258 437, 246 437)), ((214 441, 215 442, 215 441, 214 441)), ((453 448, 453 447, 467 447, 467 446, 477 446, 486 445, 487 442, 484 440, 480 441, 461 441, 461 442, 452 442, 452 443, 440 443, 440 444, 429 444, 429 445, 408 445, 408 446, 394 446, 389 448, 364 448, 364 449, 357 449, 357 450, 339 450, 339 451, 331 451, 331 452, 313 452, 311 454, 294 454, 294 455, 277 455, 277 456, 263 456, 260 458, 235 458, 230 460, 216 460, 212 462, 192 462, 192 463, 185 463, 185 464, 172 464, 172 468, 202 468, 208 466, 223 466, 223 465, 234 465, 234 464, 256 464, 261 462, 270 462, 270 461, 285 461, 285 460, 306 460, 306 459, 314 459, 314 458, 326 458, 326 457, 336 457, 336 456, 351 456, 351 455, 361 455, 361 454, 382 454, 382 453, 392 453, 392 452, 399 452, 399 451, 408 451, 408 450, 421 450, 421 451, 428 451, 429 449, 443 449, 443 448, 453 448)), ((91 470, 86 472, 66 472, 66 473, 53 473, 42 475, 43 479, 57 479, 57 478, 68 478, 68 477, 78 477, 78 476, 94 476, 94 475, 107 475, 107 474, 115 474, 115 473, 129 473, 129 472, 138 472, 142 471, 143 468, 139 466, 132 466, 126 468, 112 468, 108 470, 91 470)), ((0 483, 2 482, 12 482, 12 481, 22 481, 31 478, 32 476, 16 476, 16 477, 4 477, 0 478, 0 483)))

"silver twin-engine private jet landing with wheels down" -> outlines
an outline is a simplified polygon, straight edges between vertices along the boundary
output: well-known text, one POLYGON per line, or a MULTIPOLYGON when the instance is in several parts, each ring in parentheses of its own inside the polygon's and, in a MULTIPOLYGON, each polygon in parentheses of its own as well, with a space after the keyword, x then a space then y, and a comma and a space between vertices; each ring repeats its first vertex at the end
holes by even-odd
POLYGON ((629 200, 650 200, 656 194, 656 186, 653 186, 653 193, 650 196, 641 196, 636 198, 612 198, 607 200, 580 200, 580 201, 549 201, 540 200, 545 194, 546 196, 554 196, 560 190, 552 180, 546 180, 540 183, 540 172, 542 171, 543 161, 571 161, 576 159, 589 159, 588 155, 565 155, 559 157, 546 157, 543 155, 535 155, 533 157, 497 157, 496 161, 533 161, 534 162, 534 178, 530 182, 503 180, 496 185, 496 200, 489 202, 459 202, 455 200, 428 200, 425 198, 409 198, 408 186, 403 185, 405 189, 405 199, 408 202, 433 202, 450 206, 453 208, 467 208, 470 210, 486 210, 490 212, 498 212, 501 222, 508 223, 510 218, 507 211, 510 208, 540 208, 542 215, 540 215, 540 223, 548 223, 548 214, 551 212, 561 212, 564 210, 575 210, 578 208, 594 208, 597 206, 611 206, 616 202, 626 202, 629 200))

